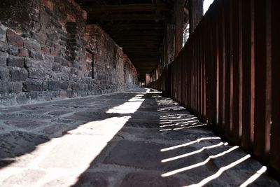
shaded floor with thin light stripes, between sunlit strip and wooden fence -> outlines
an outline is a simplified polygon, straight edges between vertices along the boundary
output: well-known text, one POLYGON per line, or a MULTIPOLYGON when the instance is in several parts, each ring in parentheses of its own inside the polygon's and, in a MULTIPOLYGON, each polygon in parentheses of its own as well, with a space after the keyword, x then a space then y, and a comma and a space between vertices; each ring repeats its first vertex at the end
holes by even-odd
POLYGON ((144 99, 73 186, 279 186, 172 99, 144 99))

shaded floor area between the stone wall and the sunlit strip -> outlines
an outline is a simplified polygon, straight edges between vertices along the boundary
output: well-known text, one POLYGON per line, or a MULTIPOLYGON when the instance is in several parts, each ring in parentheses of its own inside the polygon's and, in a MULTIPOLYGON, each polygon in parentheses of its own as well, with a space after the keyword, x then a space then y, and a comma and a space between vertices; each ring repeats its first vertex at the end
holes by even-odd
POLYGON ((136 95, 125 92, 0 109, 0 169, 21 161, 22 155, 32 157, 39 145, 89 121, 123 116, 106 111, 136 95))

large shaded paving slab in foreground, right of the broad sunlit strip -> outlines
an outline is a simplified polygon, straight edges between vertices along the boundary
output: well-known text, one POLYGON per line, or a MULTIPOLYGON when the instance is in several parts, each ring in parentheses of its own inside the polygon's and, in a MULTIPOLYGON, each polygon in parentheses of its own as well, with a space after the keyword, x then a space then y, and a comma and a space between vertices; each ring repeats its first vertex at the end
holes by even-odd
POLYGON ((162 148, 168 147, 170 145, 153 142, 118 141, 116 146, 109 151, 104 163, 168 171, 179 169, 182 165, 193 165, 197 162, 202 162, 208 157, 206 153, 202 152, 183 159, 175 159, 172 162, 162 162, 167 158, 174 158, 175 156, 183 155, 183 153, 197 151, 197 148, 192 146, 177 149, 176 151, 160 151, 162 148))

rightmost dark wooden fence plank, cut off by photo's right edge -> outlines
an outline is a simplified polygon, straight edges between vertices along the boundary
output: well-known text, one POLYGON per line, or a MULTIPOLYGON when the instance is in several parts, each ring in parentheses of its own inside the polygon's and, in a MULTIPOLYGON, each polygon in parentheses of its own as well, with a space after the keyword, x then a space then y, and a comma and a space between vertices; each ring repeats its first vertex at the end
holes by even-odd
POLYGON ((272 18, 272 129, 269 163, 280 174, 280 1, 271 1, 272 18))

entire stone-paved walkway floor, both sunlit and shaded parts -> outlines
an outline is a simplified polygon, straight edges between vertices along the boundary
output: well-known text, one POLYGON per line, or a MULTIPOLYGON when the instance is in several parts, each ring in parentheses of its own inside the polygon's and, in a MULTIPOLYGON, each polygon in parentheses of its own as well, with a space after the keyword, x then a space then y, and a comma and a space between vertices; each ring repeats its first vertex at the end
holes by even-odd
POLYGON ((265 169, 144 88, 0 109, 1 187, 279 186, 265 169))

